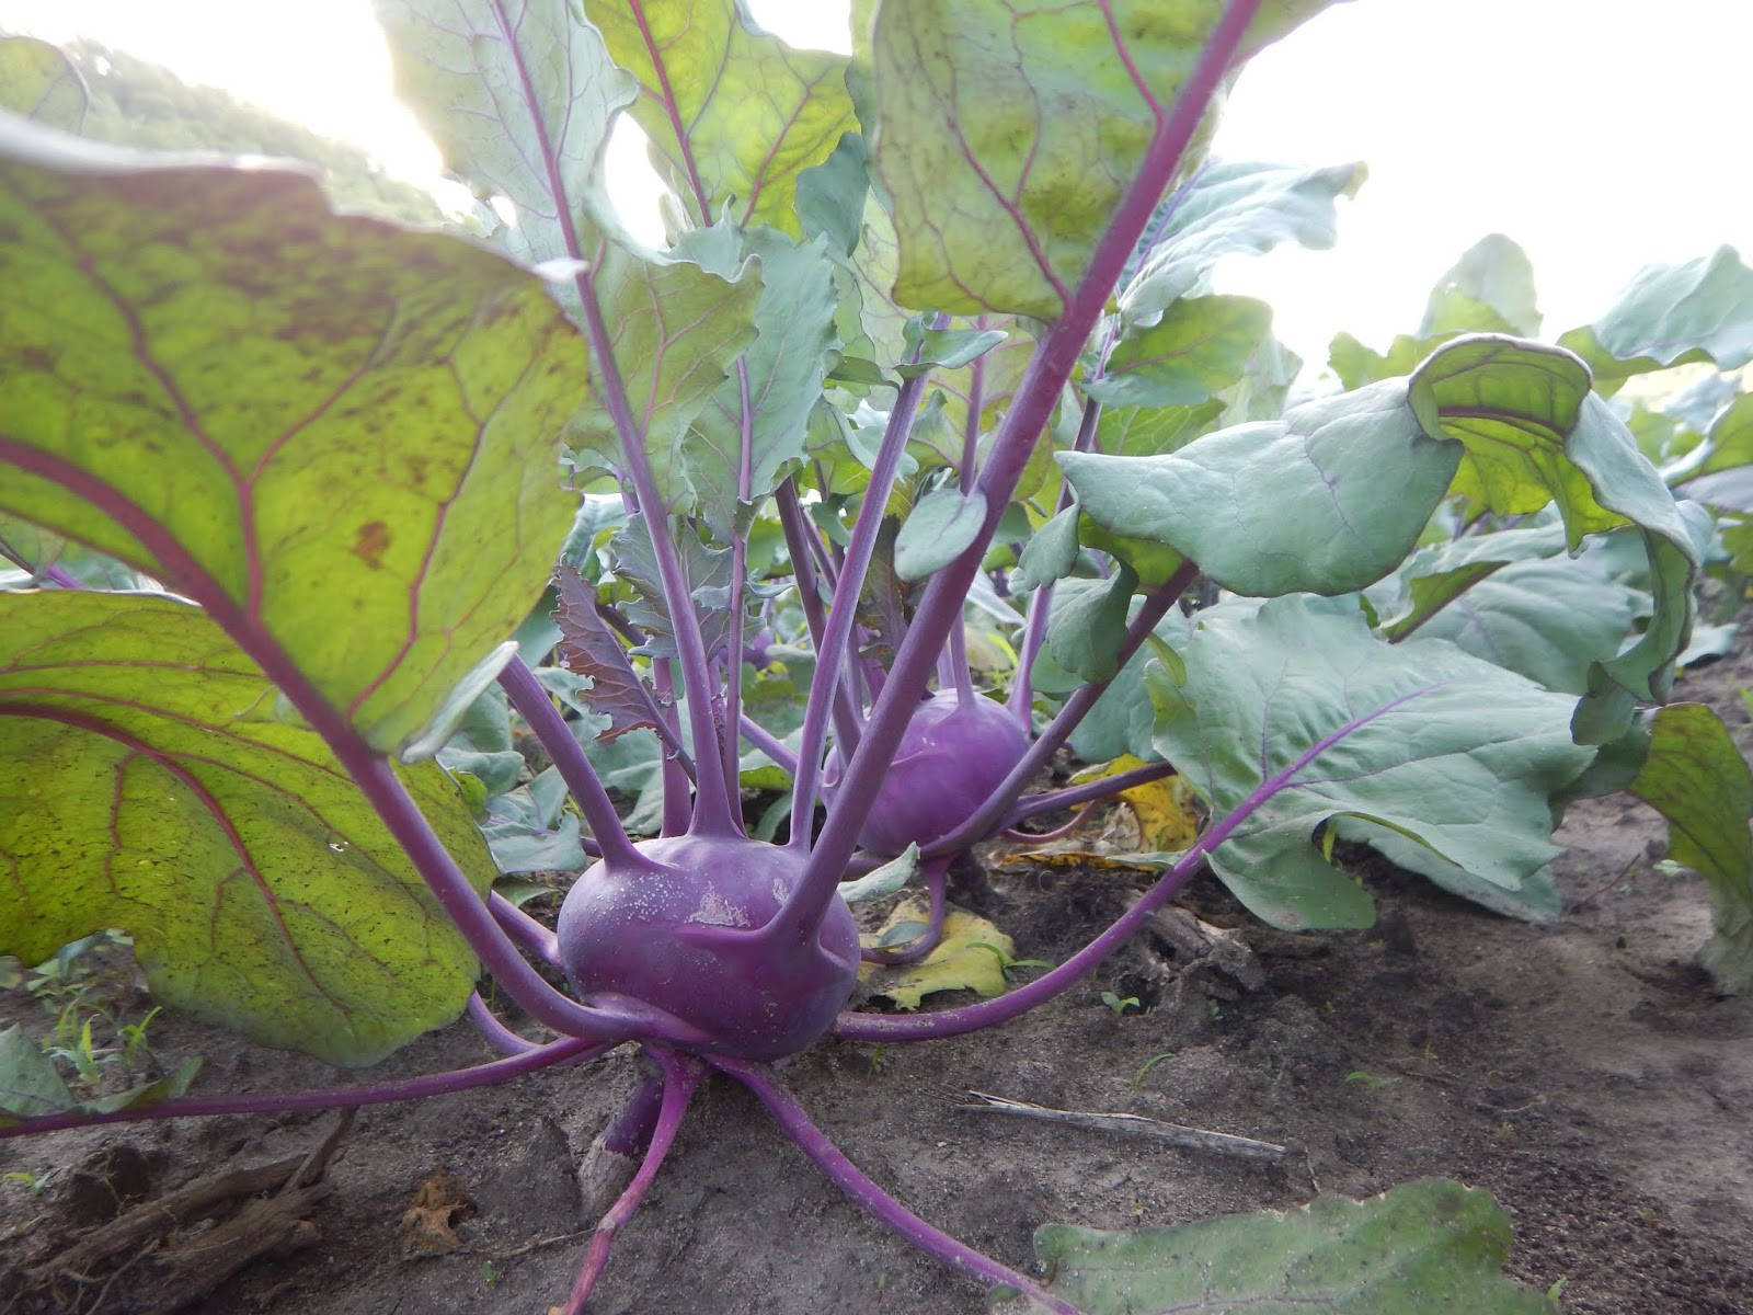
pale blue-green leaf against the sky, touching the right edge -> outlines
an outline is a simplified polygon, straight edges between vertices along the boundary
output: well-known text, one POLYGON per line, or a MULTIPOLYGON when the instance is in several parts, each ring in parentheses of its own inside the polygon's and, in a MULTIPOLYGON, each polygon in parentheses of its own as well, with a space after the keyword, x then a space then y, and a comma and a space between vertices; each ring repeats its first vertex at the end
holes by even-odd
POLYGON ((1632 375, 1671 365, 1753 361, 1753 270, 1734 247, 1685 265, 1650 265, 1593 324, 1558 342, 1581 356, 1611 394, 1632 375))

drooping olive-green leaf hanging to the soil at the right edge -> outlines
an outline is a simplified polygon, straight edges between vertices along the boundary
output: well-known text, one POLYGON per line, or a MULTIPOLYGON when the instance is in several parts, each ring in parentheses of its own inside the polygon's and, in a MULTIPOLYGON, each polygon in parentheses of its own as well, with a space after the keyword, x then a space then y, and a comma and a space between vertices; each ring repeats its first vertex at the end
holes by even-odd
POLYGON ((1667 819, 1669 857, 1704 878, 1704 966, 1723 991, 1753 991, 1753 773, 1728 728, 1702 703, 1660 708, 1630 793, 1667 819))

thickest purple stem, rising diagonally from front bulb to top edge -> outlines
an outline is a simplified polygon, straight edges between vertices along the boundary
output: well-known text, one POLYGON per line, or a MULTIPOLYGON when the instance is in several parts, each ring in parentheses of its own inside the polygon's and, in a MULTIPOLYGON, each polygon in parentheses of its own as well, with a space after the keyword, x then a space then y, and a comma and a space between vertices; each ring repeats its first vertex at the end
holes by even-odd
MULTIPOLYGON (((945 635, 962 614, 962 603, 973 584, 975 572, 985 556, 999 517, 1010 505, 1010 496, 1027 468, 1034 442, 1045 428, 1059 400, 1059 393, 1089 335, 1106 307, 1108 295, 1125 268, 1132 247, 1150 223, 1152 210, 1162 189, 1180 165, 1206 105, 1217 91, 1236 56, 1241 39, 1253 21, 1260 0, 1231 0, 1194 65, 1187 84, 1175 100, 1169 116, 1145 149, 1138 175, 1122 196, 1108 230, 1090 256, 1089 268, 1078 281, 1064 314, 1041 338, 1040 351, 1029 361, 1011 409, 999 426, 992 452, 980 470, 976 489, 985 494, 987 515, 973 545, 933 577, 924 601, 913 617, 913 628, 896 652, 889 680, 864 728, 864 738, 847 764, 841 780, 841 800, 850 807, 829 812, 827 824, 815 840, 803 880, 785 899, 775 919, 782 919, 785 935, 808 936, 820 924, 824 910, 834 899, 840 873, 857 849, 859 829, 901 735, 906 731, 913 705, 926 689, 931 663, 943 645, 945 635)), ((1010 798, 1015 798, 1010 796, 1010 798)))

